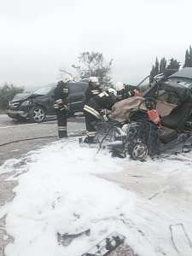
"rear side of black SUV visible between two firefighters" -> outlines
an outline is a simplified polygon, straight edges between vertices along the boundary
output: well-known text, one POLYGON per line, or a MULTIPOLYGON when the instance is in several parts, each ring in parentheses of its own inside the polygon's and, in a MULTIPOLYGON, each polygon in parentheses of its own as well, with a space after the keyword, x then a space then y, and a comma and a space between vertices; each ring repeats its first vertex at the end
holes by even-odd
POLYGON ((84 92, 87 89, 87 83, 69 83, 68 84, 68 106, 69 112, 82 112, 84 108, 84 92))

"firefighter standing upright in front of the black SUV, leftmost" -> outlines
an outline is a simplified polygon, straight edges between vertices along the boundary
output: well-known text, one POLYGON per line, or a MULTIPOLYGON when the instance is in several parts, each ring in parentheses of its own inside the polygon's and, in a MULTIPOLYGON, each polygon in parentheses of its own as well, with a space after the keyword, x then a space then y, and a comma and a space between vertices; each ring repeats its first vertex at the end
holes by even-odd
POLYGON ((58 134, 60 138, 67 137, 67 83, 69 81, 73 81, 73 77, 69 74, 64 75, 54 90, 54 108, 57 117, 58 134))

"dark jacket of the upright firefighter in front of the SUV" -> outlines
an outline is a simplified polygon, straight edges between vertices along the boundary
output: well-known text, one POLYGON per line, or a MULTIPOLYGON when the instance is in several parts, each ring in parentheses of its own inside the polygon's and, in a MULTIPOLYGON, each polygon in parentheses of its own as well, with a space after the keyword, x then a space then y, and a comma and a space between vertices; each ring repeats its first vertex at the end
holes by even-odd
POLYGON ((63 81, 59 81, 54 90, 54 108, 55 109, 68 109, 67 106, 68 87, 63 81))

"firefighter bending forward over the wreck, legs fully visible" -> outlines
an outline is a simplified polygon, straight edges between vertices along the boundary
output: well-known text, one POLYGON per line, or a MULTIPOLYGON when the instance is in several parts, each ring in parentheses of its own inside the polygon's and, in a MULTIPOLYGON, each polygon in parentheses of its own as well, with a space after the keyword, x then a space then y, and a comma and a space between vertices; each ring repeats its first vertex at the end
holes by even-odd
POLYGON ((99 95, 90 98, 84 105, 85 125, 87 130, 87 137, 84 139, 84 143, 96 143, 94 140, 96 137, 96 127, 92 125, 92 122, 100 119, 102 109, 112 109, 113 104, 116 102, 116 97, 117 91, 113 88, 109 88, 107 91, 103 91, 99 95))

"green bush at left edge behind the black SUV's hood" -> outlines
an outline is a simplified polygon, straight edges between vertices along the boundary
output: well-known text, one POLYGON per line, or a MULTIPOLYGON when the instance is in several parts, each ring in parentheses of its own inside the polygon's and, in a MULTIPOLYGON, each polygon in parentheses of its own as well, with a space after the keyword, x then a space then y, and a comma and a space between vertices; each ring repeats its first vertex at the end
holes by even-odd
POLYGON ((23 87, 17 87, 14 84, 4 83, 0 87, 0 110, 5 110, 8 108, 9 101, 13 99, 15 94, 23 92, 25 89, 23 87))

